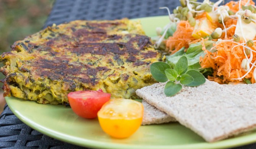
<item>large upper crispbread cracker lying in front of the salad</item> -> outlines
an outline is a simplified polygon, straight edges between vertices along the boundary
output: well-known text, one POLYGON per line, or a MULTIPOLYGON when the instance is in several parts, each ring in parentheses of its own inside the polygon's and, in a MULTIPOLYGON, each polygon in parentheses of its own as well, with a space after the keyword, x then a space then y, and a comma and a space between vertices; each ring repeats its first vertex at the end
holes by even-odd
POLYGON ((138 89, 136 94, 207 142, 219 141, 256 127, 256 99, 244 96, 243 92, 237 94, 235 90, 239 88, 232 90, 207 80, 198 87, 184 86, 175 96, 166 97, 164 86, 165 83, 156 83, 138 89))

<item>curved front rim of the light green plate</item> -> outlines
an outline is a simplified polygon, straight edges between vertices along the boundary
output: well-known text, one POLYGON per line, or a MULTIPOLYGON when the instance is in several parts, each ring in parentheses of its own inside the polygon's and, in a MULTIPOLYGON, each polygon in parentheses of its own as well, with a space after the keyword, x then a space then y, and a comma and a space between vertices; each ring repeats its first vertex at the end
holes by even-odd
MULTIPOLYGON (((21 112, 13 109, 12 107, 12 100, 21 100, 16 97, 5 97, 6 103, 8 104, 8 107, 11 109, 11 111, 15 114, 16 117, 19 118, 19 120, 23 121, 26 125, 31 127, 34 130, 39 131, 42 134, 45 134, 47 136, 50 136, 52 138, 58 139, 60 141, 64 141, 70 144, 74 144, 77 146, 82 147, 92 147, 92 148, 104 148, 104 149, 130 149, 130 148, 136 148, 136 149, 221 149, 221 148, 227 148, 227 147, 238 147, 243 146, 246 144, 251 144, 256 142, 256 132, 251 134, 253 137, 245 135, 241 136, 243 138, 230 138, 225 139, 222 141, 218 141, 215 143, 196 143, 196 144, 185 144, 185 145, 136 145, 136 144, 118 144, 118 143, 105 143, 100 141, 94 141, 90 139, 84 139, 84 138, 78 138, 74 136, 70 136, 65 133, 60 133, 58 131, 51 130, 49 128, 46 128, 40 124, 35 123, 34 121, 26 118, 22 115, 21 112), (13 98, 13 99, 12 99, 13 98), (244 141, 246 140, 246 141, 244 141), (83 142, 83 143, 81 143, 83 142)), ((26 101, 25 102, 35 102, 35 101, 26 101)), ((35 102, 36 103, 36 102, 35 102)), ((36 103, 37 104, 37 103, 36 103)), ((141 126, 143 127, 143 126, 141 126)), ((250 134, 249 134, 250 135, 250 134)))

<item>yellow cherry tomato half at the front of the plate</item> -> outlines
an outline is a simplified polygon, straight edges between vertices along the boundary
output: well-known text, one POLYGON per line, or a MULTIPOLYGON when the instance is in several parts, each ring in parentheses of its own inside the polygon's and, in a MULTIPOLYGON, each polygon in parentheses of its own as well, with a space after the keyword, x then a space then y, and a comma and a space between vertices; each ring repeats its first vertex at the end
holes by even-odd
POLYGON ((97 113, 102 130, 113 138, 127 138, 143 118, 143 104, 132 99, 110 99, 97 113))

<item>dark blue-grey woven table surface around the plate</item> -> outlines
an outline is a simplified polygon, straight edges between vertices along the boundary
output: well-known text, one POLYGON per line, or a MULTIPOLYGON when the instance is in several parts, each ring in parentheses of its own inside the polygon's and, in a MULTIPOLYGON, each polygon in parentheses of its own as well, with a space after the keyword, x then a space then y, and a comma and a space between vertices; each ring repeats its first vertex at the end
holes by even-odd
MULTIPOLYGON (((215 0, 216 1, 216 0, 215 0)), ((228 1, 225 1, 228 2, 228 1)), ((167 15, 161 6, 173 10, 178 0, 56 0, 44 28, 76 19, 121 19, 167 15)), ((0 115, 0 148, 80 149, 83 147, 50 138, 25 125, 5 105, 0 115)), ((234 149, 255 149, 256 144, 234 149)))

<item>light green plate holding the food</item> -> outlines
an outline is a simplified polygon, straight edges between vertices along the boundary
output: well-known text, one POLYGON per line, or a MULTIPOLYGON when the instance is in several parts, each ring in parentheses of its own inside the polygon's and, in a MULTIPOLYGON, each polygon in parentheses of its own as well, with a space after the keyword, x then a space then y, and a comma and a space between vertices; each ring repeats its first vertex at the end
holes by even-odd
MULTIPOLYGON (((141 18, 148 36, 154 36, 157 26, 169 22, 167 16, 141 18)), ((127 139, 114 139, 105 134, 97 119, 78 117, 63 105, 42 105, 33 101, 6 97, 13 113, 28 126, 50 137, 84 147, 110 149, 216 149, 242 146, 256 142, 256 131, 216 143, 203 138, 179 123, 141 126, 127 139)))

